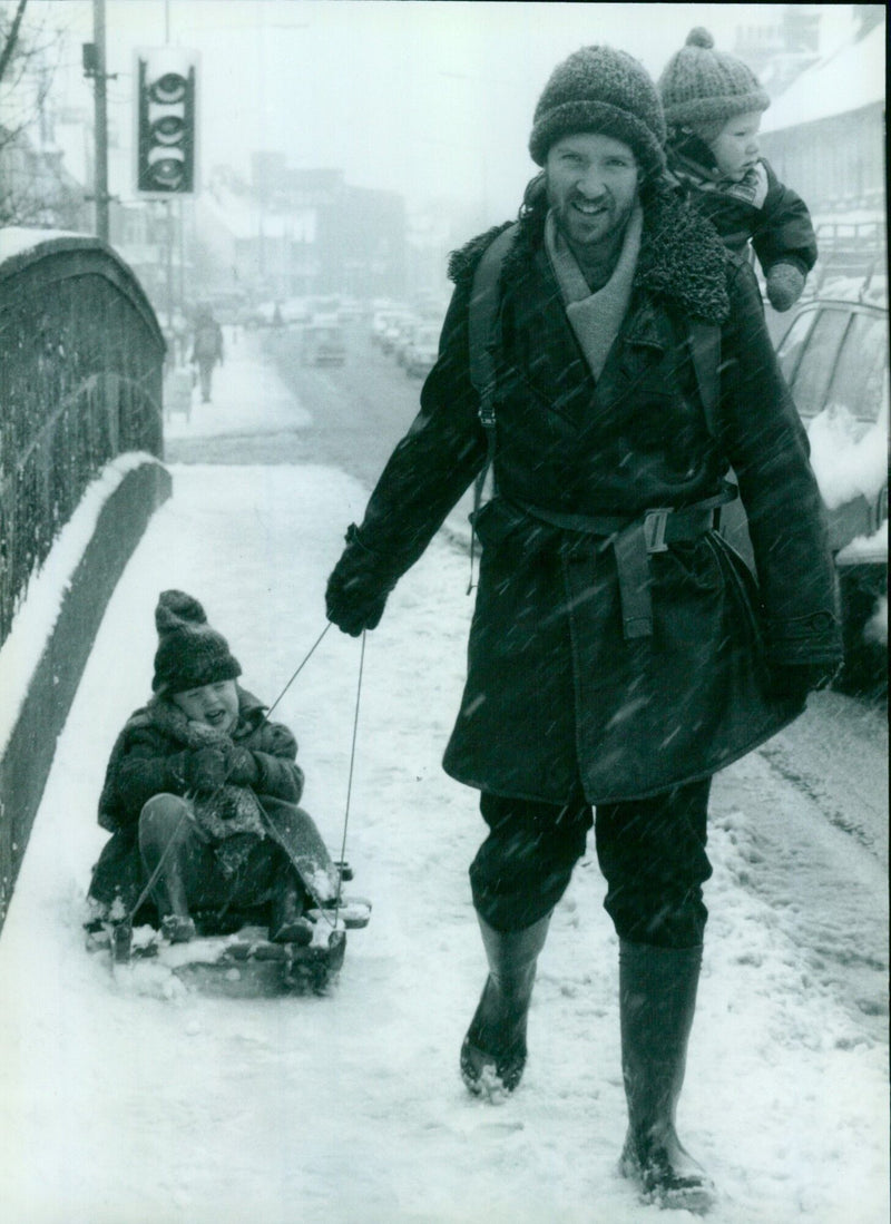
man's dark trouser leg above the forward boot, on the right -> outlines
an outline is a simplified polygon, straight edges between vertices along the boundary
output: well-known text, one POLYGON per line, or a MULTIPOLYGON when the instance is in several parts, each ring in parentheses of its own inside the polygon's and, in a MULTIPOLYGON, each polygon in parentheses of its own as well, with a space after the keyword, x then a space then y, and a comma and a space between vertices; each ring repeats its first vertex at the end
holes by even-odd
POLYGON ((621 939, 676 949, 703 944, 710 786, 704 778, 650 799, 597 807, 603 905, 621 939))

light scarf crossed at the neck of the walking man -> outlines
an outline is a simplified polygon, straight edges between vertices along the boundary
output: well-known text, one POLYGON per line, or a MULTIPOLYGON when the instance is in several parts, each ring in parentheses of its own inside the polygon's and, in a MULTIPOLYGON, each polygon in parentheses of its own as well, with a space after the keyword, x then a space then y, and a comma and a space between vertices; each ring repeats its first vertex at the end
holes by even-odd
POLYGON ((567 317, 595 379, 601 376, 628 312, 643 226, 644 212, 636 203, 612 275, 601 289, 591 293, 569 244, 557 228, 553 211, 548 212, 545 222, 545 247, 551 268, 563 295, 567 317))

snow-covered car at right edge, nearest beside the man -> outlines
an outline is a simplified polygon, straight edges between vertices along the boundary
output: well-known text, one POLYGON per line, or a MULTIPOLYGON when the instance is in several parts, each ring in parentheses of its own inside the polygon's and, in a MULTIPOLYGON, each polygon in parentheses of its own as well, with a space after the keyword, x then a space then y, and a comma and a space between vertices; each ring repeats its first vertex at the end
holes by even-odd
MULTIPOLYGON (((840 286, 836 286, 838 291, 840 286)), ((847 690, 887 687, 889 317, 884 286, 800 306, 777 344, 808 430, 838 573, 847 690)), ((739 503, 722 530, 751 562, 739 503)))

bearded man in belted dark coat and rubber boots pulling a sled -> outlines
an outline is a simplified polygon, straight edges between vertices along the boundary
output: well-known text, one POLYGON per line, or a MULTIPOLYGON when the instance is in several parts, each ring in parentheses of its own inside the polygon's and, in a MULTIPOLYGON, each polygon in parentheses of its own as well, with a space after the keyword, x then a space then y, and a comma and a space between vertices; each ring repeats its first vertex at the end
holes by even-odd
MULTIPOLYGON (((543 174, 499 274, 497 493, 475 515, 469 673, 444 767, 481 791, 488 825, 470 880, 490 973, 465 1083, 519 1083, 536 958, 596 808, 621 947, 621 1168, 647 1200, 703 1209, 714 1189, 674 1111, 710 778, 800 714, 841 647, 807 438, 754 278, 666 190, 663 141, 652 82, 610 48, 569 56, 536 108, 543 174), (714 530, 731 466, 760 592, 714 530)), ((329 579, 328 616, 346 633, 375 628, 485 469, 469 305, 494 236, 452 259, 420 415, 329 579)))

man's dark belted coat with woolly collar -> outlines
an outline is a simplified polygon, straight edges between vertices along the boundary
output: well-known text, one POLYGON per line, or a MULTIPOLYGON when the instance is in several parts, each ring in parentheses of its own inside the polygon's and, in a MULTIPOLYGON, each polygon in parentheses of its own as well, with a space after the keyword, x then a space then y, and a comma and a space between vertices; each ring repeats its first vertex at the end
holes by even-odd
MULTIPOLYGON (((833 569, 807 436, 778 372, 750 269, 661 193, 645 203, 629 311, 595 383, 530 212, 502 269, 497 496, 483 507, 468 679, 444 767, 502 796, 640 798, 709 776, 800 712, 767 660, 840 654, 833 569), (720 324, 717 420, 687 343, 720 324), (714 436, 715 432, 718 435, 714 436), (652 633, 623 632, 614 548, 530 514, 639 517, 718 494, 732 465, 755 580, 716 531, 654 553, 652 633)), ((361 545, 394 581, 481 470, 468 301, 494 231, 452 261, 457 289, 421 411, 368 503, 361 545)))

